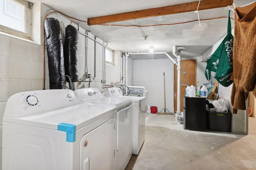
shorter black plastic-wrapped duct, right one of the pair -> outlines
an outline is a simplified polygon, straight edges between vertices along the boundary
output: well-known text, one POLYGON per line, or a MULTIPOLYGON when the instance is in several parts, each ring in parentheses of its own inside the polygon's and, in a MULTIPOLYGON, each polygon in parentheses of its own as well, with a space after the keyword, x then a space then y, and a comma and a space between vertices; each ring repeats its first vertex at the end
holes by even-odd
MULTIPOLYGON (((77 51, 78 30, 74 26, 68 25, 64 42, 64 63, 66 75, 70 77, 71 82, 78 81, 77 51)), ((69 82, 68 77, 66 77, 66 80, 69 82)))

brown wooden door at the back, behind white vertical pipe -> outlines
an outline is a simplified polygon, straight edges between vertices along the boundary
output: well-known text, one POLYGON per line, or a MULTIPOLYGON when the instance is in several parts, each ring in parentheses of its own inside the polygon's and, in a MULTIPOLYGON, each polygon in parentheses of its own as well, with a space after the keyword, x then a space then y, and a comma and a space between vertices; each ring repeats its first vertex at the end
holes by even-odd
MULTIPOLYGON (((177 76, 178 76, 177 65, 174 67, 174 112, 177 111, 177 76)), ((186 94, 186 87, 196 87, 196 60, 182 60, 181 61, 181 73, 180 73, 180 111, 183 111, 183 96, 186 94)))

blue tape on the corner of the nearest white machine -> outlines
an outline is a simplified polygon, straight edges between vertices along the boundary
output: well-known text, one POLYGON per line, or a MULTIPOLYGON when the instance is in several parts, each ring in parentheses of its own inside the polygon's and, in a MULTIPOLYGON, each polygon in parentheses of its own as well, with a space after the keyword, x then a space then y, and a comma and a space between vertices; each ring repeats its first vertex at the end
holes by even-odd
POLYGON ((58 124, 58 131, 66 132, 66 141, 74 142, 76 141, 76 125, 68 123, 58 124))

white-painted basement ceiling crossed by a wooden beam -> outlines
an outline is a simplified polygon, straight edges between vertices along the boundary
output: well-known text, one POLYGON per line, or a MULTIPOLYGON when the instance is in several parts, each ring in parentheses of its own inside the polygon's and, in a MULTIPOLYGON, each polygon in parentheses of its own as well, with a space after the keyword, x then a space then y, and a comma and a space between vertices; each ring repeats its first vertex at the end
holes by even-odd
MULTIPOLYGON (((196 0, 30 0, 30 2, 41 2, 53 10, 62 12, 73 18, 87 20, 88 18, 106 16, 195 2, 196 0)), ((198 0, 199 2, 199 0, 198 0)), ((234 0, 237 6, 244 6, 255 0, 234 0)), ((203 31, 196 31, 194 26, 198 24, 198 16, 195 12, 185 12, 166 16, 136 19, 136 25, 154 25, 165 23, 180 23, 164 26, 150 27, 120 27, 113 25, 92 25, 79 23, 81 27, 90 30, 92 34, 108 42, 108 47, 113 50, 128 52, 148 52, 154 46, 155 52, 171 52, 172 47, 181 49, 181 57, 198 57, 214 45, 227 32, 227 18, 215 20, 204 20, 228 16, 225 8, 200 10, 200 22, 206 23, 208 27, 203 31), (145 40, 143 36, 147 35, 145 40)), ((234 18, 234 12, 230 12, 234 18)), ((134 25, 134 20, 120 21, 111 24, 134 25)), ((231 20, 232 27, 234 20, 231 20)), ((136 58, 133 58, 136 59, 136 58)))

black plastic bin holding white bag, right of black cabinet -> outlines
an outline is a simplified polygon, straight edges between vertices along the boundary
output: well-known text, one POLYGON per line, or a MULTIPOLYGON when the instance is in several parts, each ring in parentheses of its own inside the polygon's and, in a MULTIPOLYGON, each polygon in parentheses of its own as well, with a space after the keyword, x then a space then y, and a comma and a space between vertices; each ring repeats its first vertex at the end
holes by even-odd
POLYGON ((223 131, 230 132, 230 112, 227 113, 219 113, 219 112, 208 112, 206 115, 206 124, 207 128, 210 131, 223 131))

